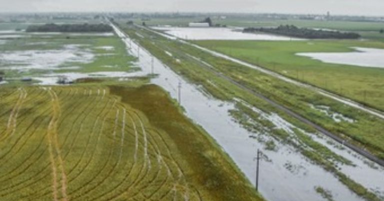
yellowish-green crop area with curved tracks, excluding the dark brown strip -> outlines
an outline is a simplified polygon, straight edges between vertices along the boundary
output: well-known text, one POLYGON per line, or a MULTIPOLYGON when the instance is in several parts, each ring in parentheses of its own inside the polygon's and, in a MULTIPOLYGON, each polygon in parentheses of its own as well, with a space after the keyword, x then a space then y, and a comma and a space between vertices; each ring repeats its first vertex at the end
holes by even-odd
POLYGON ((165 133, 106 89, 26 89, 5 97, 12 109, 0 117, 7 118, 5 125, 9 121, 8 132, 15 128, 7 137, 15 143, 1 151, 1 161, 25 158, 6 163, 0 197, 33 188, 18 200, 201 200, 162 138, 165 133))

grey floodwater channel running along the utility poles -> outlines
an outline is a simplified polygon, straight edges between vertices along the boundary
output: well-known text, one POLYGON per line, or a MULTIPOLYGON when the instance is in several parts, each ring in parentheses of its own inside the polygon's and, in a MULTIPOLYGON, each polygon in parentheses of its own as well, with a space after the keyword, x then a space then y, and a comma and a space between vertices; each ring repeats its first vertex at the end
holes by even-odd
MULTIPOLYGON (((144 72, 149 73, 152 68, 152 56, 141 47, 138 47, 134 42, 130 42, 129 39, 125 38, 118 30, 116 30, 116 32, 125 41, 131 54, 137 55, 137 52, 139 52, 137 65, 139 65, 144 72)), ((156 58, 154 58, 153 69, 154 72, 159 75, 153 79, 152 82, 169 91, 170 95, 175 99, 178 99, 178 85, 179 83, 181 84, 180 101, 186 110, 186 114, 196 123, 204 127, 229 154, 245 176, 252 183, 255 183, 254 157, 256 150, 258 148, 262 149, 264 145, 249 137, 254 134, 248 132, 232 120, 228 109, 233 108, 233 104, 205 96, 198 89, 198 86, 188 83, 156 58)), ((270 118, 276 126, 293 126, 289 125, 288 122, 285 122, 279 116, 271 115, 270 118)), ((265 137, 268 137, 268 135, 265 135, 265 137)), ((316 140, 324 144, 326 144, 327 141, 331 141, 326 137, 319 137, 318 139, 316 138, 316 140)), ((364 163, 364 159, 360 156, 355 156, 350 150, 341 150, 330 144, 327 145, 332 147, 336 153, 345 155, 345 157, 348 157, 348 159, 357 165, 356 167, 342 166, 341 170, 345 174, 370 189, 378 190, 381 193, 384 191, 384 184, 380 183, 380 181, 384 180, 384 170, 381 167, 377 167, 377 169, 372 168, 364 163), (368 175, 369 179, 362 178, 363 175, 368 175), (369 182, 369 180, 374 181, 369 182)), ((312 164, 290 146, 278 143, 277 146, 277 151, 262 149, 268 160, 264 159, 261 161, 259 191, 267 200, 325 200, 315 192, 314 188, 316 186, 330 190, 335 200, 363 200, 340 183, 333 174, 312 164)))

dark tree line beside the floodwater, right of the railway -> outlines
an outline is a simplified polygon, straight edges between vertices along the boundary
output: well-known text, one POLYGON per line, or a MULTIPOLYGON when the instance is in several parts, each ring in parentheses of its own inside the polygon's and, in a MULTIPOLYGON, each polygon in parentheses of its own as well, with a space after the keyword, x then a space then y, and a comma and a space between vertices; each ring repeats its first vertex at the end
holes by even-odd
POLYGON ((266 32, 290 37, 308 38, 308 39, 357 39, 361 35, 354 32, 340 32, 323 29, 298 28, 294 25, 280 25, 277 28, 244 28, 243 32, 266 32))

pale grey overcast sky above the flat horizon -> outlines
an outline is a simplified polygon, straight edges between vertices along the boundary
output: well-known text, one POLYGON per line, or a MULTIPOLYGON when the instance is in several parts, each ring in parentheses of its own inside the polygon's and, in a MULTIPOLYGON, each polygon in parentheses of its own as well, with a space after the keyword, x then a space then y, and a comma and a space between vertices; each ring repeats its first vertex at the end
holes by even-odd
POLYGON ((384 16, 384 0, 0 0, 0 12, 278 12, 384 16))

